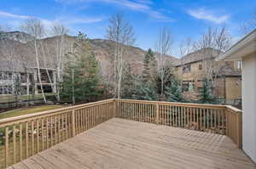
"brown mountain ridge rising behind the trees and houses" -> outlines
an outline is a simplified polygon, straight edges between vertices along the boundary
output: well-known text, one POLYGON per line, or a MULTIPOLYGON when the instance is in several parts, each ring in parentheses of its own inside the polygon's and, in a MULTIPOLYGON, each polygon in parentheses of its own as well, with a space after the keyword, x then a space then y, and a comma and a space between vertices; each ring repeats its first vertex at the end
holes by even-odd
MULTIPOLYGON (((30 42, 32 39, 31 36, 27 35, 24 32, 12 31, 12 32, 3 32, 0 33, 0 39, 5 40, 4 42, 0 41, 0 70, 3 70, 3 65, 8 65, 9 61, 9 51, 6 50, 6 47, 11 47, 15 50, 13 53, 15 55, 15 63, 13 67, 15 69, 24 69, 24 67, 36 67, 35 59, 35 50, 33 48, 33 43, 30 42), (23 38, 27 37, 27 38, 23 38), (21 40, 20 40, 21 39, 21 40), (26 39, 26 41, 22 40, 26 39), (21 63, 21 64, 20 64, 21 63)), ((38 45, 44 47, 44 51, 38 51, 39 53, 39 62, 41 67, 47 67, 51 69, 57 68, 57 48, 60 46, 61 37, 47 37, 42 40, 38 40, 38 45)), ((76 37, 65 36, 63 48, 65 48, 64 53, 68 53, 73 48, 73 42, 76 41, 76 37)), ((96 59, 99 60, 102 75, 108 76, 111 69, 113 69, 113 53, 115 42, 109 41, 106 39, 90 39, 90 46, 92 52, 96 55, 96 59)), ((143 70, 143 59, 146 54, 141 48, 127 46, 125 50, 124 62, 131 63, 133 70, 137 74, 141 74, 143 70)), ((166 63, 172 63, 178 59, 172 56, 166 56, 166 63)), ((8 67, 6 67, 8 70, 8 67)))

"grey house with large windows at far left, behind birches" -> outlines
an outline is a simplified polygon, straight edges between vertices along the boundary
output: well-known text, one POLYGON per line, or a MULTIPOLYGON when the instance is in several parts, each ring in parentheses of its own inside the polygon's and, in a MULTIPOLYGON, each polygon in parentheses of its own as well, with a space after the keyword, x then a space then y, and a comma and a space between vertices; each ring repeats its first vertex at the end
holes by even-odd
MULTIPOLYGON (((40 58, 41 82, 45 93, 56 91, 56 70, 54 60, 40 58), (48 67, 45 68, 44 65, 48 67), (47 72, 48 71, 48 72, 47 72), (48 78, 50 77, 50 81, 48 78)), ((41 93, 38 68, 33 48, 13 40, 0 41, 0 97, 15 93, 15 82, 19 82, 20 94, 41 93), (33 86, 33 87, 32 87, 33 86)))

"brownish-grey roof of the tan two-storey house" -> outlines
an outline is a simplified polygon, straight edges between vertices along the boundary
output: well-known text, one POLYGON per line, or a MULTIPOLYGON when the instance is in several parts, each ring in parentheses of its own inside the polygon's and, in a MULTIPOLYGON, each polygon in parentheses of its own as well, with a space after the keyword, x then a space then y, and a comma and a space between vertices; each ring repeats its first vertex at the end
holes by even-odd
POLYGON ((177 60, 175 65, 186 65, 194 62, 198 62, 204 59, 214 59, 218 56, 220 52, 214 48, 202 48, 190 54, 183 56, 181 59, 177 60))

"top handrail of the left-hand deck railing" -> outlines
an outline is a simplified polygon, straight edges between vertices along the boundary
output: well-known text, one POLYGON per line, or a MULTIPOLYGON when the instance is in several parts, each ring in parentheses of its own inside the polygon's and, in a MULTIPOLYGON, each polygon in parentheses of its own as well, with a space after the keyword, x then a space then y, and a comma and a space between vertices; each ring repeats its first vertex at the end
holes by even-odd
POLYGON ((45 116, 45 115, 55 115, 58 112, 63 113, 63 111, 69 111, 69 110, 78 110, 79 108, 83 108, 83 107, 89 107, 91 105, 97 105, 97 104, 103 104, 103 103, 109 103, 109 102, 113 102, 114 99, 105 99, 105 100, 101 100, 101 101, 97 101, 97 102, 91 102, 91 103, 87 103, 87 104, 79 104, 79 105, 73 105, 73 106, 69 106, 69 107, 64 107, 61 109, 55 109, 55 110, 45 110, 39 113, 32 113, 29 115, 19 115, 19 116, 15 116, 15 117, 9 117, 9 118, 5 118, 0 120, 0 127, 4 127, 7 125, 12 125, 13 123, 15 123, 15 121, 26 121, 26 120, 30 120, 31 118, 35 118, 35 117, 39 117, 39 116, 45 116))

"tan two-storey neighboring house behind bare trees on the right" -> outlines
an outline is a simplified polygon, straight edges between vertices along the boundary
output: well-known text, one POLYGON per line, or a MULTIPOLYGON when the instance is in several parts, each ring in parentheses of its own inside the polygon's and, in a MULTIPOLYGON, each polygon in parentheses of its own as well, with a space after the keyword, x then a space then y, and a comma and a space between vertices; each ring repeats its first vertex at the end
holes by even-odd
POLYGON ((196 99, 204 77, 211 77, 213 93, 225 104, 241 103, 241 63, 217 62, 218 50, 206 48, 183 56, 175 64, 175 74, 181 80, 183 93, 196 99))

